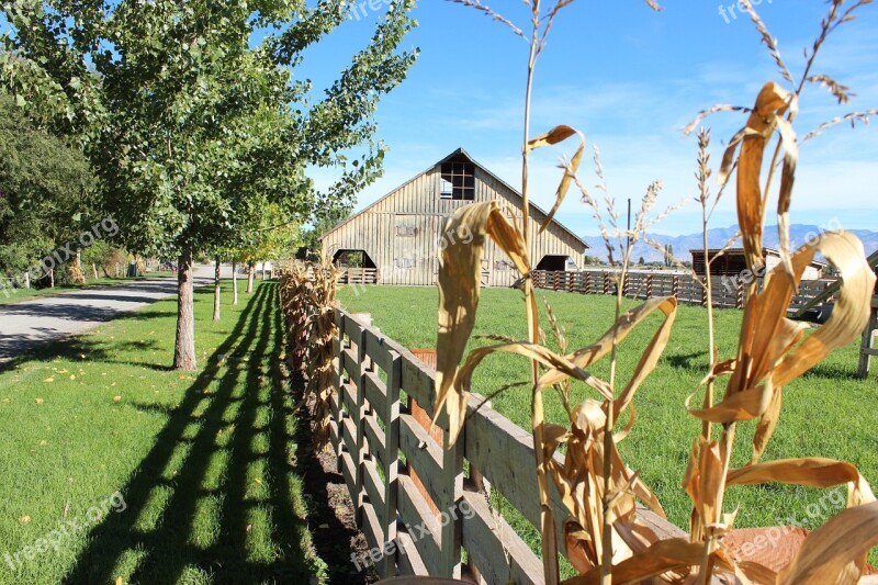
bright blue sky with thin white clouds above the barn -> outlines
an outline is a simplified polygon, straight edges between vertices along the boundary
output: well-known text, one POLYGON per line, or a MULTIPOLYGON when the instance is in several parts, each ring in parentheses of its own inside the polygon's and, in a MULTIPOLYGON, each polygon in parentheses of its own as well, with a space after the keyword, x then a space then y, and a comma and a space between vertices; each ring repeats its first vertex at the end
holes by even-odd
MULTIPOLYGON (((485 2, 524 24, 519 0, 485 2)), ((556 124, 581 128, 597 144, 611 194, 639 200, 649 183, 665 189, 658 206, 689 203, 656 232, 700 230, 696 195, 696 142, 680 128, 713 103, 752 105, 758 89, 781 81, 748 18, 731 13, 731 0, 665 0, 662 13, 640 0, 578 0, 562 12, 537 68, 532 134, 556 124), (720 13, 724 4, 725 16, 720 13)), ((755 4, 756 2, 754 2, 755 4)), ((374 0, 367 16, 345 23, 331 40, 312 49, 304 74, 317 87, 345 66, 364 43, 386 4, 374 0)), ((757 7, 778 37, 793 77, 801 75, 802 49, 811 46, 828 4, 823 0, 763 0, 757 7)), ((405 46, 420 58, 408 79, 384 98, 380 137, 391 150, 385 175, 361 193, 362 209, 430 167, 457 147, 515 187, 520 185, 520 144, 527 45, 508 29, 472 9, 441 0, 420 0, 419 22, 405 46)), ((857 97, 837 105, 813 86, 803 95, 796 128, 803 136, 820 122, 849 111, 878 108, 878 7, 865 7, 821 53, 814 72, 851 86, 857 97)), ((707 121, 713 132, 713 160, 739 130, 742 114, 707 121)), ((838 126, 802 147, 793 193, 792 221, 822 225, 836 220, 851 229, 878 230, 878 126, 838 126)), ((558 156, 569 145, 534 157, 531 192, 550 207, 558 182, 558 156)), ((596 181, 583 165, 586 184, 596 181)), ((328 177, 315 176, 318 184, 328 177)), ((733 198, 714 215, 713 227, 735 223, 733 198)), ((621 205, 623 206, 623 204, 621 205)), ((559 218, 582 235, 597 229, 590 213, 571 195, 559 218)), ((772 217, 768 223, 774 223, 772 217)))

